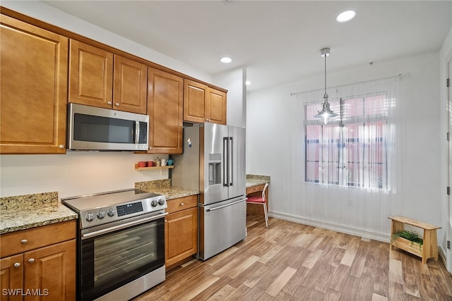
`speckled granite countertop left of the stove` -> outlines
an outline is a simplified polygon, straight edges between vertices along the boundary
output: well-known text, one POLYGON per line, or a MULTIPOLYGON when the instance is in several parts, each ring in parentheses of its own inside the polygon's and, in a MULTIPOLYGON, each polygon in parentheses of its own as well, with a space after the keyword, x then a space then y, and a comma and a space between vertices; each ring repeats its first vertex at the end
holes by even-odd
POLYGON ((61 204, 58 192, 0 197, 0 234, 77 219, 61 204))

